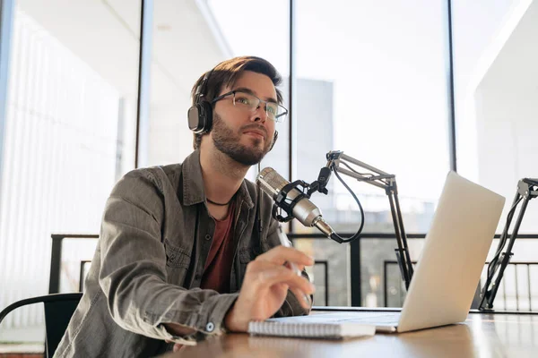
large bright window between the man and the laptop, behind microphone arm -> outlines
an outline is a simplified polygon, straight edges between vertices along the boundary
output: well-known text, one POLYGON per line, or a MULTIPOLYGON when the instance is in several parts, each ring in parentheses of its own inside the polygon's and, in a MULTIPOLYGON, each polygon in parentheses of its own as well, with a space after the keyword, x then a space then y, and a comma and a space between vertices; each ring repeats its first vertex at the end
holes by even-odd
MULTIPOLYGON (((316 180, 325 153, 343 150, 396 175, 404 227, 423 233, 449 170, 448 27, 446 1, 414 3, 297 1, 297 176, 316 180)), ((343 180, 366 211, 364 232, 394 234, 386 193, 343 180)), ((357 231, 359 208, 334 175, 329 194, 312 200, 337 231, 357 231)), ((317 260, 328 260, 330 304, 350 304, 349 249, 308 242, 317 260)), ((416 260, 421 242, 410 246, 416 260)), ((395 260, 395 247, 394 240, 363 244, 362 277, 353 278, 362 283, 362 304, 383 304, 383 261, 395 260)))

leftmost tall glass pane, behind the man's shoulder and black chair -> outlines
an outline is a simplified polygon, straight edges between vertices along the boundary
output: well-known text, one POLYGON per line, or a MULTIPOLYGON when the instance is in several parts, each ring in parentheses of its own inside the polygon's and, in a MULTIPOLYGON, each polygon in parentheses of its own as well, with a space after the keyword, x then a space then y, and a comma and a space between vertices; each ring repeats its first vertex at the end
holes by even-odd
MULTIPOLYGON (((111 188, 134 167, 141 2, 15 3, 0 151, 0 307, 48 293, 50 235, 99 233, 111 188)), ((93 251, 70 249, 74 257, 93 251)), ((3 328, 42 324, 39 313, 39 305, 14 311, 3 328)), ((21 339, 42 341, 29 332, 21 339)))

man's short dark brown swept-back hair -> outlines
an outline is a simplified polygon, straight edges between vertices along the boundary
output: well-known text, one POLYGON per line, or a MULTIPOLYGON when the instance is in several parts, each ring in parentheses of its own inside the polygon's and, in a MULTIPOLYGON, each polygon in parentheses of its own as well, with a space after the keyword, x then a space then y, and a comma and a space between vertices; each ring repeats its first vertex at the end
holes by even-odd
MULTIPOLYGON (((205 82, 204 89, 202 89, 202 94, 204 94, 203 100, 211 102, 213 98, 216 98, 221 93, 223 88, 233 86, 235 81, 237 81, 239 76, 245 71, 265 74, 271 79, 271 81, 273 81, 274 87, 280 85, 282 82, 282 76, 280 73, 276 71, 273 64, 270 64, 265 59, 256 56, 234 57, 230 60, 217 64, 213 70, 208 71, 211 72, 211 74, 205 82)), ((208 72, 205 72, 202 74, 202 76, 200 76, 200 78, 195 82, 193 90, 191 90, 191 100, 193 105, 195 105, 196 89, 204 80, 204 76, 208 72)), ((276 99, 279 104, 282 104, 281 90, 276 89, 276 99)), ((200 148, 202 135, 203 134, 194 133, 194 149, 200 148)))

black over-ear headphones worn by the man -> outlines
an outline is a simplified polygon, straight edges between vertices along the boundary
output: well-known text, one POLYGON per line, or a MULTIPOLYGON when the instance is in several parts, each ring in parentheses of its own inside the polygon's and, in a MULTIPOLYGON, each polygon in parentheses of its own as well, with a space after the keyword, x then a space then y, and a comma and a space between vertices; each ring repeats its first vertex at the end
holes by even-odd
MULTIPOLYGON (((207 91, 207 82, 213 73, 214 68, 205 73, 204 79, 196 87, 195 104, 188 108, 187 119, 188 128, 196 134, 204 134, 211 131, 213 126, 213 105, 205 100, 205 92, 207 91)), ((273 143, 271 143, 271 151, 274 143, 278 139, 278 131, 274 131, 273 143)))

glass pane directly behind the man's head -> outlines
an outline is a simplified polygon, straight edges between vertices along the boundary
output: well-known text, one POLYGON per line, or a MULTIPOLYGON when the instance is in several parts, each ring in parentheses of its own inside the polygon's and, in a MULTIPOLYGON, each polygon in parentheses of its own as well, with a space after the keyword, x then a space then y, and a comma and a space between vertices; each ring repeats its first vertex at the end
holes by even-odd
MULTIPOLYGON (((237 55, 257 55, 287 76, 287 13, 286 0, 155 2, 150 165, 181 162, 192 152, 187 110, 192 86, 202 73, 237 55), (260 21, 268 10, 271 21, 260 21)), ((285 107, 287 97, 284 93, 285 107)), ((277 124, 277 130, 279 140, 262 166, 274 166, 287 176, 287 124, 277 124)), ((253 167, 247 178, 254 180, 256 173, 253 167)))

